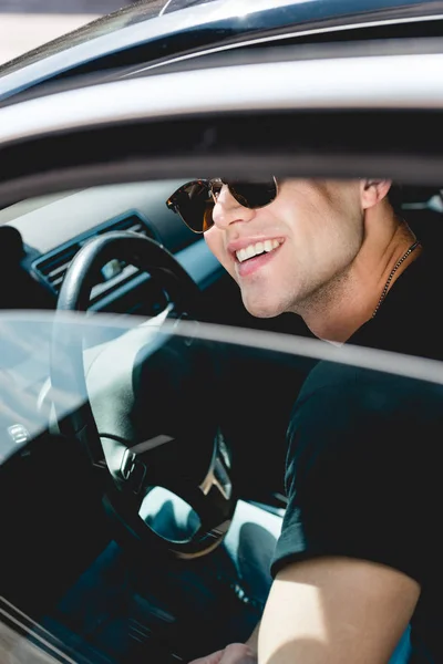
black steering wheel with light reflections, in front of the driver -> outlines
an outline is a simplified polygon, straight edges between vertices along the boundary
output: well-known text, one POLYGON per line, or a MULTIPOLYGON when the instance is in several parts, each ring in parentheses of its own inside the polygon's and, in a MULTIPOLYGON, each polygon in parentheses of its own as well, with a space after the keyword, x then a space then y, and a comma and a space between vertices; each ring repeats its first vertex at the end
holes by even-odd
MULTIPOLYGON (((60 432, 74 436, 106 474, 103 500, 117 535, 137 550, 156 546, 182 559, 216 548, 236 505, 230 453, 215 411, 212 357, 192 343, 188 329, 182 333, 189 325, 184 318, 198 324, 199 299, 196 283, 155 240, 131 231, 97 236, 82 247, 65 273, 51 349, 60 432), (159 317, 86 351, 84 338, 91 325, 84 317, 60 312, 86 311, 101 269, 115 258, 148 272, 169 304, 159 317), (162 334, 162 322, 171 314, 174 329, 162 334), (81 401, 68 414, 60 398, 66 393, 81 401), (199 526, 185 539, 165 537, 140 516, 144 499, 158 486, 194 510, 199 526)), ((89 320, 93 315, 90 312, 89 320)))

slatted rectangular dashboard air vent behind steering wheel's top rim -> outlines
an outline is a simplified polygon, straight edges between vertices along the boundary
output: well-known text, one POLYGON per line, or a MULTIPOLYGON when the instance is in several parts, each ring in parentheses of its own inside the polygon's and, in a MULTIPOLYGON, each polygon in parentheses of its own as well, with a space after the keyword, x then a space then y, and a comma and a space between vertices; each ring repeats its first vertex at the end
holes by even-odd
MULTIPOLYGON (((81 247, 94 236, 103 235, 104 232, 110 232, 112 230, 131 230, 144 235, 145 237, 155 238, 151 228, 137 215, 107 221, 106 224, 91 229, 87 234, 73 239, 69 245, 60 247, 51 253, 47 253, 43 259, 37 260, 33 263, 37 276, 58 294, 69 264, 81 247)), ((130 266, 127 267, 127 276, 130 277, 128 268, 130 266)), ((131 272, 135 272, 135 269, 132 268, 131 272)))

